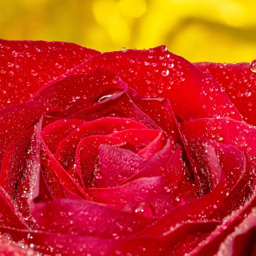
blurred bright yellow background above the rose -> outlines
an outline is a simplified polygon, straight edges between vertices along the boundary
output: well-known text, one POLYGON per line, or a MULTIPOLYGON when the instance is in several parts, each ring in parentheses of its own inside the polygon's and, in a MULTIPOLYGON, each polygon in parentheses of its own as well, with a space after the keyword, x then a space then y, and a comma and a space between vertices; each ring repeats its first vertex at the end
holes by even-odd
POLYGON ((256 58, 253 0, 0 0, 0 38, 100 51, 165 44, 189 61, 256 58))

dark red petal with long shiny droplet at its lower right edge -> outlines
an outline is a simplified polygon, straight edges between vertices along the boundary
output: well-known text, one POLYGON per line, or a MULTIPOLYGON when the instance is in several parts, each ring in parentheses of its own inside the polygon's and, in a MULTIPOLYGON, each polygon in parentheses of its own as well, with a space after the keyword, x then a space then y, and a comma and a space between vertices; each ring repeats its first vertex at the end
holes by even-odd
POLYGON ((35 93, 33 100, 66 109, 76 101, 100 102, 123 90, 128 91, 128 87, 117 74, 98 67, 87 75, 67 76, 45 85, 35 93))

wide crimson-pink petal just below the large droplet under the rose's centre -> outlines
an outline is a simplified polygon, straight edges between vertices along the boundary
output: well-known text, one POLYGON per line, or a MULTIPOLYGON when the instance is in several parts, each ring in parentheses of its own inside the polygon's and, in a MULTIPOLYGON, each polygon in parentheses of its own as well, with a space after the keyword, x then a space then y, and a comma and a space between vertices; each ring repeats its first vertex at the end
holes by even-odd
POLYGON ((144 229, 150 220, 84 200, 57 199, 34 204, 38 229, 60 234, 127 238, 144 229))

